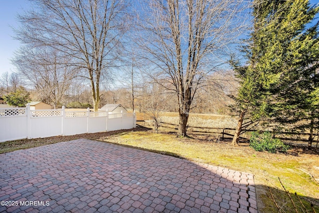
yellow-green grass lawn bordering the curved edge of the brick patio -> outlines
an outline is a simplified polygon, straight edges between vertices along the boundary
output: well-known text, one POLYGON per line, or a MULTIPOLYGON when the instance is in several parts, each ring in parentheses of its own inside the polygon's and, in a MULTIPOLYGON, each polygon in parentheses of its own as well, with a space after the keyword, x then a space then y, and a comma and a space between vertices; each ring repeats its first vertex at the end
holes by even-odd
POLYGON ((270 154, 256 152, 247 144, 233 147, 229 142, 214 143, 211 140, 206 140, 207 138, 194 139, 197 137, 196 135, 190 136, 193 138, 176 138, 173 133, 156 134, 143 129, 122 130, 4 142, 0 143, 0 153, 78 138, 99 140, 251 173, 255 177, 258 209, 261 213, 278 212, 275 204, 267 197, 267 195, 271 195, 268 187, 271 189, 279 208, 283 208, 287 213, 296 212, 280 185, 278 180, 280 178, 298 206, 299 212, 303 212, 302 205, 294 195, 295 192, 300 196, 308 212, 313 212, 310 203, 313 203, 315 211, 319 212, 318 153, 295 148, 290 150, 288 155, 270 154))

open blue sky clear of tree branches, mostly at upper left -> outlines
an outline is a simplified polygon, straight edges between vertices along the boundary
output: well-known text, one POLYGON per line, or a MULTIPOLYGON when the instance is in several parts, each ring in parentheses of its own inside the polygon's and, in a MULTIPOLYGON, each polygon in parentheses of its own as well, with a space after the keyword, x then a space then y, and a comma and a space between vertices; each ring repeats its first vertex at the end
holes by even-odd
MULTIPOLYGON (((30 7, 28 0, 0 0, 0 75, 4 72, 15 71, 10 59, 13 52, 20 46, 19 41, 14 40, 12 28, 16 26, 16 15, 30 7)), ((310 0, 311 3, 319 3, 319 0, 310 0)))

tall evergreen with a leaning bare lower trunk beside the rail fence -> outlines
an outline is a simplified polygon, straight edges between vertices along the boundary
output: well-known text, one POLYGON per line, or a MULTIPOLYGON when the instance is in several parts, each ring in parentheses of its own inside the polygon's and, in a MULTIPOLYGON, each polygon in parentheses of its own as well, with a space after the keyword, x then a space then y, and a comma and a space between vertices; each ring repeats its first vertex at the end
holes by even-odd
POLYGON ((314 74, 318 61, 318 30, 317 25, 307 28, 307 24, 314 19, 319 7, 310 6, 309 0, 254 0, 253 7, 254 29, 247 51, 249 65, 235 66, 241 88, 237 97, 240 116, 234 145, 239 141, 243 126, 265 118, 283 124, 296 123, 300 120, 290 116, 292 110, 305 113, 312 106, 314 111, 314 98, 318 97, 317 74, 314 74), (308 85, 310 78, 312 86, 308 85), (302 94, 310 92, 311 95, 306 99, 296 93, 289 95, 288 90, 294 92, 297 88, 303 90, 302 94), (250 121, 244 122, 245 117, 250 121))

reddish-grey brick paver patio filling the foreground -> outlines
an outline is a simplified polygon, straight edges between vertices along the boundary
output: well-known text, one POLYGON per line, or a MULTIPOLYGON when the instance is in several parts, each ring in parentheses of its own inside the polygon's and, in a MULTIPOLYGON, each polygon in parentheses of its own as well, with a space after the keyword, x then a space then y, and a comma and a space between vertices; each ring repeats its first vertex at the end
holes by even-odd
POLYGON ((253 175, 87 139, 0 165, 0 212, 257 213, 253 175))

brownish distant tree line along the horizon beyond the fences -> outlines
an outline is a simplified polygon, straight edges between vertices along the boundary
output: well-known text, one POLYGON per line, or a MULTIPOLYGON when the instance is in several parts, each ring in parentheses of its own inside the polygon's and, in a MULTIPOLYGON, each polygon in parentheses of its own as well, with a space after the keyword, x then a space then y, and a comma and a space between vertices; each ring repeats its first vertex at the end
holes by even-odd
MULTIPOLYGON (((6 82, 4 81, 6 74, 4 73, 3 76, 0 76, 0 97, 3 104, 8 103, 12 106, 25 107, 25 104, 29 101, 41 101, 56 108, 61 108, 62 106, 67 108, 93 108, 90 86, 83 84, 80 80, 72 79, 66 91, 61 96, 56 96, 52 95, 52 93, 47 93, 47 90, 30 88, 31 85, 24 81, 20 81, 18 85, 13 84, 15 86, 10 81, 8 81, 8 84, 3 83, 6 82), (13 100, 23 101, 21 104, 16 105, 14 102, 8 101, 5 98, 7 96, 10 96, 13 100)), ((11 75, 16 74, 11 73, 11 75)), ((238 87, 237 80, 234 78, 232 72, 215 74, 212 78, 220 83, 224 82, 224 84, 221 84, 221 86, 218 84, 211 85, 210 88, 205 90, 200 89, 194 99, 192 113, 231 113, 227 105, 234 103, 234 101, 229 94, 235 95, 236 88, 238 87)), ((156 82, 136 84, 133 91, 135 94, 134 109, 136 112, 146 112, 151 109, 178 112, 178 106, 174 101, 174 94, 156 82)), ((100 94, 99 108, 107 103, 119 103, 133 110, 132 89, 126 82, 117 85, 117 88, 102 89, 100 94)))

